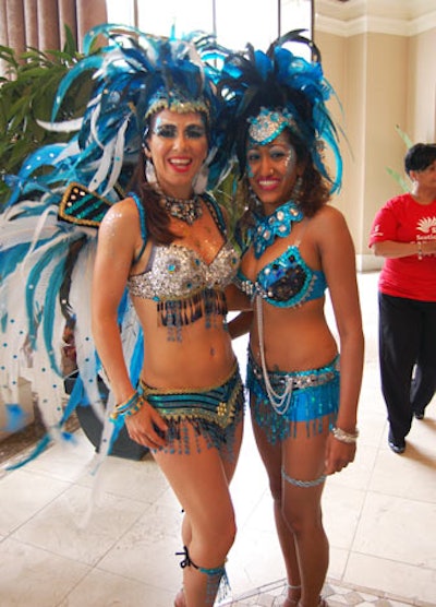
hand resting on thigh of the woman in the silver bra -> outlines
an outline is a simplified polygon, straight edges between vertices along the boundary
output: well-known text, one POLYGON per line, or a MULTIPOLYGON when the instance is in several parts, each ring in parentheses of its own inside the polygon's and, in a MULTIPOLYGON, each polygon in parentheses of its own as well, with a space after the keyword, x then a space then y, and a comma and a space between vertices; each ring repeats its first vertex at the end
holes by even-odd
POLYGON ((125 418, 125 427, 132 440, 148 449, 160 449, 167 444, 166 439, 157 430, 165 435, 168 426, 146 400, 143 400, 143 405, 137 413, 125 418))

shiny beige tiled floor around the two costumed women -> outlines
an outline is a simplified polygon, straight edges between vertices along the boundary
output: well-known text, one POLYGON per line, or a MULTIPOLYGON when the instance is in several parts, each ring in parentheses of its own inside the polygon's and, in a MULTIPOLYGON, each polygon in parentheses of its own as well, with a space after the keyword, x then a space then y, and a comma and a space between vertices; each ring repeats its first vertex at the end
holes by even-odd
MULTIPOLYGON (((330 606, 436 606, 436 400, 414 422, 407 452, 391 453, 378 381, 377 275, 359 281, 361 438, 356 462, 329 478, 324 493, 331 546, 324 593, 330 606)), ((244 338, 237 347, 243 358, 244 338)), ((0 480, 1 607, 171 606, 181 514, 166 480, 148 457, 109 457, 95 478, 93 447, 81 430, 76 438, 0 480)), ((278 606, 284 571, 249 425, 233 497, 233 604, 278 606)))

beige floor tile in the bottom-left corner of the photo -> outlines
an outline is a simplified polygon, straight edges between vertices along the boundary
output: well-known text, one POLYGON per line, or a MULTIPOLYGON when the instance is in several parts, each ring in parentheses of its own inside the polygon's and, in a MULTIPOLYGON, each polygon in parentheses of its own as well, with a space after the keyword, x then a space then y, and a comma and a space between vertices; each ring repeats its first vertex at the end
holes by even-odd
POLYGON ((58 607, 88 571, 83 563, 11 538, 0 543, 0 561, 2 607, 58 607))

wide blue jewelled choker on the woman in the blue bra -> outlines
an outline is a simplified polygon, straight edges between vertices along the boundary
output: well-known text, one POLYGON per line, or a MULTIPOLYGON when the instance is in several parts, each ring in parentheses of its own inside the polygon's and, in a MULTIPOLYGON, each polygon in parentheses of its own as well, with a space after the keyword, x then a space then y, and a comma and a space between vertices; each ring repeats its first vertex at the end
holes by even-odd
POLYGON ((292 224, 301 222, 304 215, 292 200, 286 202, 270 215, 255 214, 255 226, 251 230, 254 257, 259 257, 272 245, 277 237, 284 238, 291 234, 292 224))

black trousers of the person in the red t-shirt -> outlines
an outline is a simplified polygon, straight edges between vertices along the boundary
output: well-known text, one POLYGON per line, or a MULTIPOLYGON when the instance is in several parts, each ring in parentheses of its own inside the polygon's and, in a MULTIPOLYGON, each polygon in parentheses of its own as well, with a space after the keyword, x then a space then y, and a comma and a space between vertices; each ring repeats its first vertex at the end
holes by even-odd
POLYGON ((436 390, 436 302, 379 293, 378 309, 382 392, 400 444, 436 390))

